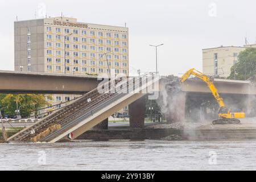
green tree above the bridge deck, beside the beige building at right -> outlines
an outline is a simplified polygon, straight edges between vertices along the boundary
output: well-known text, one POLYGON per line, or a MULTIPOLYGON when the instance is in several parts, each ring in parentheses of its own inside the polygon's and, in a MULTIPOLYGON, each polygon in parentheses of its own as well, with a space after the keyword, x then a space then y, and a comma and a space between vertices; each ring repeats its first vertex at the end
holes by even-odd
POLYGON ((256 74, 256 48, 246 48, 240 52, 238 62, 230 69, 231 73, 228 79, 234 80, 234 71, 236 80, 247 80, 256 74))

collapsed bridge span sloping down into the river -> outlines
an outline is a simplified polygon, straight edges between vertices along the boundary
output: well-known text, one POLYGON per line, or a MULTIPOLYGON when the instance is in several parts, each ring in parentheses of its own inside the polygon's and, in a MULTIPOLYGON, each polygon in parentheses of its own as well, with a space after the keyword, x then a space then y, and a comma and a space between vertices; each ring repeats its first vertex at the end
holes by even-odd
MULTIPOLYGON (((143 77, 148 77, 148 75, 143 77)), ((127 90, 134 90, 133 93, 120 93, 116 89, 114 93, 100 94, 97 88, 93 89, 78 100, 73 101, 67 107, 53 112, 42 119, 42 121, 20 131, 8 140, 29 142, 31 138, 39 136, 36 142, 54 143, 59 140, 68 139, 71 133, 73 135, 72 139, 75 139, 116 111, 143 97, 147 93, 145 91, 147 91, 148 86, 152 86, 156 81, 159 81, 159 77, 155 77, 153 81, 143 83, 139 79, 135 80, 134 78, 130 78, 127 82, 121 81, 117 83, 128 85, 127 90), (91 98, 90 102, 87 102, 88 98, 91 98), (60 125, 61 128, 55 131, 49 130, 55 125, 60 125), (49 131, 49 133, 44 135, 45 131, 49 131)), ((109 87, 110 85, 106 86, 109 87)))

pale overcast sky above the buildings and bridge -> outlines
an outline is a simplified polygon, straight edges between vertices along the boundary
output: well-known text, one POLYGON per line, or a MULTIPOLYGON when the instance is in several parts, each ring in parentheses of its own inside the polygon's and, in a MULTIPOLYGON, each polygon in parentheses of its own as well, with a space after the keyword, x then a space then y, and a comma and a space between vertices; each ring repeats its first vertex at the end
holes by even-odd
POLYGON ((202 70, 203 48, 243 46, 256 40, 256 2, 208 0, 69 0, 1 1, 0 69, 14 70, 14 21, 64 16, 79 22, 129 27, 130 73, 155 71, 155 49, 161 44, 161 75, 202 70), (44 7, 46 9, 44 10, 44 7))

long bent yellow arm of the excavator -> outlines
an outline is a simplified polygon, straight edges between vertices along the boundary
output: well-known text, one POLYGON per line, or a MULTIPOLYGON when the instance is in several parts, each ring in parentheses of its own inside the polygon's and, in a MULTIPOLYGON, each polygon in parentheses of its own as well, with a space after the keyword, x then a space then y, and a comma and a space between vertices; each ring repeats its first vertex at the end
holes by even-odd
POLYGON ((225 107, 224 101, 222 99, 222 97, 220 97, 220 95, 218 94, 218 90, 217 88, 213 85, 213 82, 210 81, 209 77, 204 75, 203 73, 197 71, 196 69, 192 68, 189 69, 189 71, 187 71, 180 79, 180 83, 184 82, 185 80, 187 80, 188 77, 190 77, 191 75, 196 76, 197 78, 200 78, 201 80, 203 80, 207 86, 209 87, 210 91, 212 92, 214 98, 217 100, 218 105, 220 107, 225 107))

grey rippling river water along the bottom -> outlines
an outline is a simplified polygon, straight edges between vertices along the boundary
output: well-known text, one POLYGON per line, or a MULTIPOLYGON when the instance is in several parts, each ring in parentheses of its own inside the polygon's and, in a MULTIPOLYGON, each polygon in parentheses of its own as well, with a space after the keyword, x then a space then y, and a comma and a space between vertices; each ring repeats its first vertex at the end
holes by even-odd
POLYGON ((0 170, 255 170, 256 140, 0 144, 0 170))

